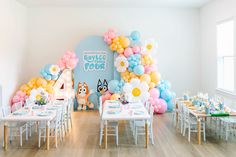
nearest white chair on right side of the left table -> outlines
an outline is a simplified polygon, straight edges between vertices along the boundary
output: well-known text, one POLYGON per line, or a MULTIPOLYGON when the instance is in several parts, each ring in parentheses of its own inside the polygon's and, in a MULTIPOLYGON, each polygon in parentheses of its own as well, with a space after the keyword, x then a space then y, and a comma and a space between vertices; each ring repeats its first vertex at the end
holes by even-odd
MULTIPOLYGON (((57 137, 59 136, 62 139, 61 134, 61 117, 62 117, 62 108, 57 110, 56 118, 50 122, 49 126, 49 136, 55 138, 55 145, 57 147, 57 137)), ((46 122, 39 123, 38 126, 38 147, 41 146, 41 137, 46 139, 46 122), (42 135, 43 134, 43 135, 42 135)))

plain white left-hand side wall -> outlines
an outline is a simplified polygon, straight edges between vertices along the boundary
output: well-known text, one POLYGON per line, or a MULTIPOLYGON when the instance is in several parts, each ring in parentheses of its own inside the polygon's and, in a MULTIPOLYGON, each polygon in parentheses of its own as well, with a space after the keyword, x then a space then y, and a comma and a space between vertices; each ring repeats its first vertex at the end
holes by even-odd
POLYGON ((23 79, 26 24, 27 9, 23 5, 0 0, 0 106, 9 103, 23 79))

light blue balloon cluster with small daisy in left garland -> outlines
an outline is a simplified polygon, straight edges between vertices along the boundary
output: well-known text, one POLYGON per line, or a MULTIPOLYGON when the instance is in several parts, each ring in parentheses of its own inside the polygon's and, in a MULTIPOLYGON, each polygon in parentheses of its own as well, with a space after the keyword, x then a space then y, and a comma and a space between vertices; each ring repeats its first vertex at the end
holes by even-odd
POLYGON ((60 67, 56 64, 47 64, 41 71, 40 74, 46 80, 56 80, 60 75, 60 67))

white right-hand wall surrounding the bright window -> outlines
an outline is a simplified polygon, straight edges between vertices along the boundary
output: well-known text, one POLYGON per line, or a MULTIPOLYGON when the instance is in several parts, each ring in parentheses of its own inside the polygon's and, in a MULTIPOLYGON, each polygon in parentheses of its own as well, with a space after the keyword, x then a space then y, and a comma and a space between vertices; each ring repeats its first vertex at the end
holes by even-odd
MULTIPOLYGON (((202 90, 211 95, 217 87, 217 52, 216 52, 216 23, 236 16, 235 0, 215 0, 200 10, 201 19, 201 82, 202 90)), ((228 99, 235 97, 223 94, 228 99)), ((230 101, 230 100, 228 100, 230 101)), ((233 100, 234 101, 234 100, 233 100)), ((232 103, 232 102, 231 102, 232 103)), ((236 106, 236 105, 235 105, 236 106)))

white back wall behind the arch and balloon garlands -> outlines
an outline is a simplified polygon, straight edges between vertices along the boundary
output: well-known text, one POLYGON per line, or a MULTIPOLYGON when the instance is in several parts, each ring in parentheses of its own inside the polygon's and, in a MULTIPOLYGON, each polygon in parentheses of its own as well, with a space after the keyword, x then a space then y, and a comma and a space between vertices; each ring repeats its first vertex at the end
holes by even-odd
POLYGON ((28 78, 46 63, 55 63, 66 49, 74 50, 89 35, 103 35, 110 27, 128 35, 139 30, 143 39, 155 38, 154 56, 164 79, 177 93, 200 89, 198 9, 31 8, 29 10, 28 78))

